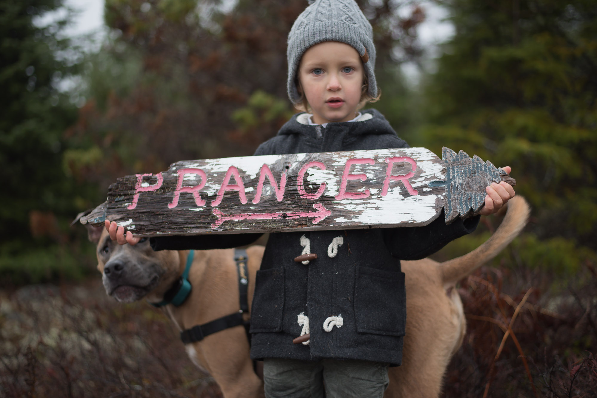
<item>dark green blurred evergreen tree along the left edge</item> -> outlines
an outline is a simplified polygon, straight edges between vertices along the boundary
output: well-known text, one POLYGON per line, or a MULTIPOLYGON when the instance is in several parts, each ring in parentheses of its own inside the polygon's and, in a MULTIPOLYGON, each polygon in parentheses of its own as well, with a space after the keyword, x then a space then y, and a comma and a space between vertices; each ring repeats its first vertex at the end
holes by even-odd
MULTIPOLYGON (((60 7, 60 0, 0 2, 3 279, 7 269, 18 273, 27 262, 39 265, 41 259, 43 263, 49 259, 61 263, 67 258, 75 267, 73 273, 80 273, 72 254, 56 246, 69 238, 68 222, 84 189, 84 185, 77 187, 67 179, 62 167, 67 147, 64 130, 76 120, 77 108, 57 86, 76 71, 75 51, 60 36, 66 24, 61 14, 51 15, 48 24, 39 26, 41 17, 60 7), (37 253, 38 249, 41 252, 37 253), (27 260, 19 257, 21 254, 27 260)), ((52 271, 40 269, 38 273, 44 276, 52 271)), ((42 276, 33 279, 41 280, 42 276)), ((10 283, 8 279, 4 282, 10 283)))

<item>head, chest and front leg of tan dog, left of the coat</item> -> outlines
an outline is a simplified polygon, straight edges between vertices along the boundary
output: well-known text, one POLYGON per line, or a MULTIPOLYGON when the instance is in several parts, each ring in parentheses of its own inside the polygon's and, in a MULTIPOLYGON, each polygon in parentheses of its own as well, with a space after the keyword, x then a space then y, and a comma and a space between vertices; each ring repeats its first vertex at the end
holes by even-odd
MULTIPOLYGON (((110 240, 103 227, 89 232, 90 240, 97 242, 97 269, 103 275, 106 293, 118 301, 145 298, 158 303, 183 273, 189 251, 153 251, 146 240, 134 246, 119 245, 110 240)), ((263 246, 247 248, 249 297, 253 297, 263 250, 263 246)), ((188 278, 193 287, 190 296, 179 307, 164 307, 179 329, 239 312, 238 270, 233 257, 234 249, 195 251, 188 278)), ((250 306, 251 300, 248 303, 250 306)), ((244 327, 207 335, 187 344, 186 350, 193 363, 216 380, 224 397, 263 396, 263 383, 253 371, 244 327)))

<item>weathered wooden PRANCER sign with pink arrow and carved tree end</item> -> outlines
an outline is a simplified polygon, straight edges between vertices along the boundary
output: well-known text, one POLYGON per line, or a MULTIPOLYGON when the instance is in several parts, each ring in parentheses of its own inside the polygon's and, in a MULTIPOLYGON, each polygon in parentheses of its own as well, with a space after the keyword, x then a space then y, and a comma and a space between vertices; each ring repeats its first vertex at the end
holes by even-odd
POLYGON ((504 170, 478 156, 426 148, 179 161, 110 185, 82 223, 115 220, 136 235, 197 235, 416 226, 445 208, 478 212, 504 170))

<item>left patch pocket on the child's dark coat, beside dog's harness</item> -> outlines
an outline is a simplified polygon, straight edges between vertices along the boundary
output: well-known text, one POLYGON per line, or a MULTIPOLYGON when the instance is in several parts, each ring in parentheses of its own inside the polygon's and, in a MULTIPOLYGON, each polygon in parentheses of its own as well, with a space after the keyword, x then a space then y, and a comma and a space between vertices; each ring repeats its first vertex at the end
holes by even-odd
POLYGON ((284 312, 284 268, 257 271, 251 333, 279 332, 284 312))

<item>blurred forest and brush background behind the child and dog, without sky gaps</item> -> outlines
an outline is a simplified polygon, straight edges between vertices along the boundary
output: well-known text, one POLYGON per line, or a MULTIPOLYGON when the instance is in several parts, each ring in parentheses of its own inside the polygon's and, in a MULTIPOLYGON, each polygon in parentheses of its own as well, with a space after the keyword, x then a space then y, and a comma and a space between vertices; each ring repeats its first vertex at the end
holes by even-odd
MULTIPOLYGON (((411 146, 512 166, 533 207, 521 237, 461 282, 469 329, 444 395, 597 396, 595 2, 438 0, 455 32, 434 59, 419 2, 358 2, 378 51, 374 107, 411 146)), ((106 0, 97 51, 61 33, 70 12, 36 23, 61 6, 0 2, 0 391, 217 396, 161 313, 104 297, 70 222, 119 176, 250 155, 275 135, 294 113, 286 37, 306 2, 106 0)))

